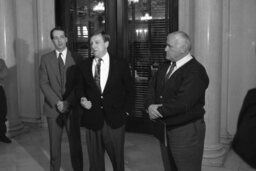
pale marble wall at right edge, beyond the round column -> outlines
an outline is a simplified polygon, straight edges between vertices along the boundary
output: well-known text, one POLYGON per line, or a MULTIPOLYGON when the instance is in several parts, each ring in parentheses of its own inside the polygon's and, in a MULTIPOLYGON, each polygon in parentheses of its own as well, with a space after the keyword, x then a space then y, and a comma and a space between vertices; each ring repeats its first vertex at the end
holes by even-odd
POLYGON ((247 91, 256 87, 256 1, 225 0, 223 7, 221 135, 227 139, 247 91))

